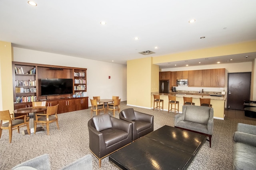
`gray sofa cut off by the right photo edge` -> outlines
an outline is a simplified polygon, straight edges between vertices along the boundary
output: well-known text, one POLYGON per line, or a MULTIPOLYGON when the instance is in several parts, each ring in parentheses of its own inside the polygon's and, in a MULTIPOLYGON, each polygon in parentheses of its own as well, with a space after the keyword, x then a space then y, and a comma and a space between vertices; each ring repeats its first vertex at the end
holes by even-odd
POLYGON ((256 126, 238 123, 234 133, 234 170, 256 170, 256 126))

